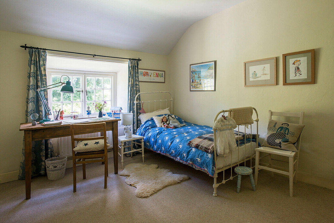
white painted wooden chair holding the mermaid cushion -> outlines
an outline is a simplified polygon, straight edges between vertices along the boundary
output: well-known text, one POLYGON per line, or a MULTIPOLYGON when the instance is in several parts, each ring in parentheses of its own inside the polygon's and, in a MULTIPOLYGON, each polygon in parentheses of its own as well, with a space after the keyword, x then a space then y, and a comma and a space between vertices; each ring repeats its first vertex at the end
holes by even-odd
MULTIPOLYGON (((272 119, 272 116, 284 116, 284 117, 299 117, 299 124, 303 124, 303 117, 304 117, 304 112, 273 112, 269 110, 269 119, 272 119)), ((258 183, 258 173, 259 170, 264 169, 271 171, 271 176, 273 177, 273 172, 288 175, 289 176, 289 181, 290 181, 290 197, 293 196, 293 183, 297 183, 297 170, 298 170, 298 158, 299 158, 299 152, 300 152, 300 140, 301 140, 302 135, 299 136, 297 140, 296 147, 298 149, 297 152, 293 151, 287 151, 283 149, 276 149, 276 148, 271 148, 267 146, 263 146, 260 148, 256 148, 256 158, 255 158, 255 185, 258 183), (260 157, 260 152, 264 153, 269 153, 267 155, 264 155, 260 157), (273 169, 273 163, 272 163, 272 157, 271 155, 281 155, 285 157, 289 157, 289 172, 286 171, 281 171, 277 169, 273 169), (260 159, 269 156, 269 165, 262 166, 259 165, 260 159), (268 167, 270 166, 270 167, 268 167)), ((281 161, 281 160, 280 160, 281 161)))

